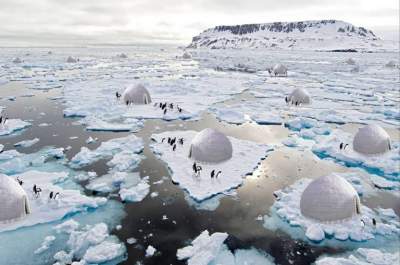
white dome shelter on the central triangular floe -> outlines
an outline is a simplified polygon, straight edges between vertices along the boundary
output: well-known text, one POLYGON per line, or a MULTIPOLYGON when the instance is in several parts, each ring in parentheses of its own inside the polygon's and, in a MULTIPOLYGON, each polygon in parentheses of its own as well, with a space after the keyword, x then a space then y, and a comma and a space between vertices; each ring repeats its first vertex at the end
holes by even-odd
POLYGON ((189 157, 200 162, 223 162, 232 157, 232 143, 223 133, 207 128, 193 138, 189 157))

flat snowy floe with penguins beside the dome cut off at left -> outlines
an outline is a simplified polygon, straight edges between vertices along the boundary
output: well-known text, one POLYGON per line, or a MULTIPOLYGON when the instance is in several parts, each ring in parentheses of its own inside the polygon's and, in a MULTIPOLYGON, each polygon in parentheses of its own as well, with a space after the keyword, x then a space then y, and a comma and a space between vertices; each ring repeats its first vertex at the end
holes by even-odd
POLYGON ((81 194, 79 190, 63 189, 53 184, 58 179, 65 179, 67 176, 66 172, 28 171, 19 174, 18 177, 24 181, 22 188, 30 200, 31 213, 22 220, 1 224, 0 232, 60 220, 69 213, 97 208, 107 202, 105 198, 90 198, 81 194), (39 197, 32 192, 35 184, 42 189, 39 197), (56 199, 49 199, 51 191, 59 192, 60 195, 56 199))

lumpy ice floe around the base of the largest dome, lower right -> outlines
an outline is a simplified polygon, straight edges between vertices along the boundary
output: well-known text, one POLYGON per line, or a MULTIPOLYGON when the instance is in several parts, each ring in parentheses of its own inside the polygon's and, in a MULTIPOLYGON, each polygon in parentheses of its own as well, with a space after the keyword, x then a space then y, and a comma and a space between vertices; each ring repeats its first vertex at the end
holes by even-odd
MULTIPOLYGON (((382 215, 381 210, 372 210, 361 205, 361 213, 352 218, 335 222, 320 222, 302 215, 300 198, 311 183, 311 179, 301 179, 293 185, 276 191, 277 200, 271 207, 271 216, 264 217, 264 226, 269 229, 285 227, 286 231, 303 231, 305 238, 312 242, 335 244, 333 240, 366 242, 375 239, 390 241, 400 233, 399 218, 395 215, 382 215), (374 225, 376 220, 376 225, 374 225), (286 225, 287 224, 287 225, 286 225)), ((300 236, 301 237, 301 236, 300 236)))

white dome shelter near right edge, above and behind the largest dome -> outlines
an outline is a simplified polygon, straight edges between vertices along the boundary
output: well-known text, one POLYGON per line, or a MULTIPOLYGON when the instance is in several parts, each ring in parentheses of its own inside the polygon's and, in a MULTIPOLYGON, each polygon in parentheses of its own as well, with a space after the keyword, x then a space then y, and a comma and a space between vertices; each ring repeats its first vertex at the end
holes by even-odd
POLYGON ((364 126, 354 136, 353 149, 366 155, 385 153, 391 149, 390 136, 379 125, 364 126))

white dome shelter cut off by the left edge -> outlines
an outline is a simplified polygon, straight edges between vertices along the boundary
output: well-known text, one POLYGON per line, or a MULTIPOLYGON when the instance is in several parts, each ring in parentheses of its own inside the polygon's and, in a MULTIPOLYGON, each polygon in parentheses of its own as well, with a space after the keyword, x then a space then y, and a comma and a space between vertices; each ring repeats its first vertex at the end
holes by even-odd
POLYGON ((30 213, 28 196, 17 181, 0 174, 0 223, 20 220, 30 213))

